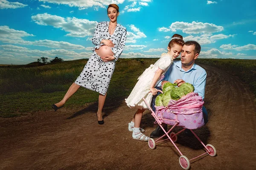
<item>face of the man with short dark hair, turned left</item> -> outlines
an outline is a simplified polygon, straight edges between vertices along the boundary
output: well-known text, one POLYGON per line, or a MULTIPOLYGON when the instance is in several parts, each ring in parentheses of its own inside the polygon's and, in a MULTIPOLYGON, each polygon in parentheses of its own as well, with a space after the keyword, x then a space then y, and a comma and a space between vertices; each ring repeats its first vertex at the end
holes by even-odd
POLYGON ((183 48, 181 50, 181 63, 183 65, 192 65, 195 62, 195 59, 197 59, 198 54, 194 54, 195 45, 183 45, 183 48))

